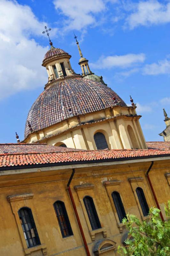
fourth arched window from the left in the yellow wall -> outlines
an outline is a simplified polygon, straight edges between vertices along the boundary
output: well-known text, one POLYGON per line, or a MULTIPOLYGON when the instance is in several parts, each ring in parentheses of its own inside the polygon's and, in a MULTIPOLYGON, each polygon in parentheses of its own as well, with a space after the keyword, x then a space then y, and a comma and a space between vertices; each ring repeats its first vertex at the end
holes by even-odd
POLYGON ((125 209, 123 207, 123 203, 120 197, 120 194, 116 191, 114 191, 112 193, 112 199, 113 199, 113 203, 115 205, 116 208, 116 212, 118 214, 119 217, 119 221, 122 222, 123 218, 126 218, 126 212, 125 209))

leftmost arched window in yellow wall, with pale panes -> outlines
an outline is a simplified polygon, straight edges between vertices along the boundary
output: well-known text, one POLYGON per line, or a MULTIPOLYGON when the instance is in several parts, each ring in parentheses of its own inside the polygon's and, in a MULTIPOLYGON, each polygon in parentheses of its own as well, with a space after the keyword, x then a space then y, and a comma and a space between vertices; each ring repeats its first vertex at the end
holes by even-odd
POLYGON ((41 244, 31 209, 23 207, 18 214, 28 248, 41 244))

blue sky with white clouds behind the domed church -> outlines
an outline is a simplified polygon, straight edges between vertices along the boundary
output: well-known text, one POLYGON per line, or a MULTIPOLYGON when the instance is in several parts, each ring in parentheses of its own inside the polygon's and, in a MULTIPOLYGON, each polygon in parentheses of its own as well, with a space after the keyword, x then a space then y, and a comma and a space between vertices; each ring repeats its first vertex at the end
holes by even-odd
POLYGON ((31 105, 47 82, 41 66, 51 41, 72 55, 73 31, 90 68, 137 113, 147 141, 162 141, 162 108, 170 116, 170 1, 0 0, 0 143, 24 138, 31 105))

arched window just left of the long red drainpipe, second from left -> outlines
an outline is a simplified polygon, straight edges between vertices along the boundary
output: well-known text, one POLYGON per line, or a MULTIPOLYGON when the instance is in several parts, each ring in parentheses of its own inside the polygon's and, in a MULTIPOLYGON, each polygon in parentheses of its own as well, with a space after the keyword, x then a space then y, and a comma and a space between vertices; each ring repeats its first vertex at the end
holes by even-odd
POLYGON ((70 225, 70 221, 68 219, 65 204, 61 201, 57 201, 54 203, 54 209, 56 211, 58 224, 60 226, 62 236, 72 236, 73 231, 70 225))

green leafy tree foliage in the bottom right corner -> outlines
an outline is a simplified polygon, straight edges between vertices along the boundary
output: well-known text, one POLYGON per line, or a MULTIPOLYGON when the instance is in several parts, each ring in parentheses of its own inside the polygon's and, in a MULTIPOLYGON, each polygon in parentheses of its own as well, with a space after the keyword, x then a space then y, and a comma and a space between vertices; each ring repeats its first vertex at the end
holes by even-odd
POLYGON ((170 202, 165 207, 167 220, 163 222, 160 210, 152 207, 147 220, 140 221, 135 215, 127 214, 123 219, 129 233, 125 246, 118 252, 124 256, 170 256, 170 202))

